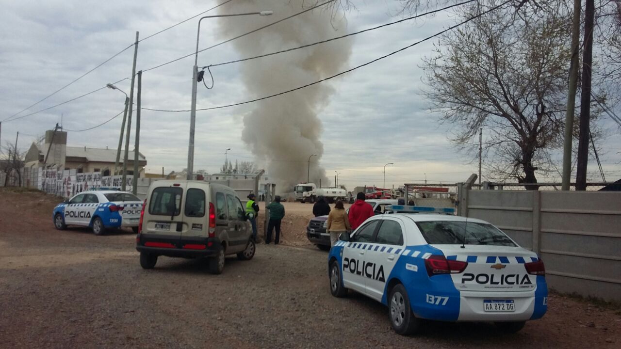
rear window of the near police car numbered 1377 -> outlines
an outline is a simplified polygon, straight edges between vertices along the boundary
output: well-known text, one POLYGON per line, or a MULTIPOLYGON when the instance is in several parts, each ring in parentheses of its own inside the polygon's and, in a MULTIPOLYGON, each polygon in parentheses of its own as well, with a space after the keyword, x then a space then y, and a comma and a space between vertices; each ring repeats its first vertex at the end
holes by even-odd
POLYGON ((516 246, 505 233, 491 224, 455 220, 429 220, 416 224, 427 243, 432 245, 516 246))

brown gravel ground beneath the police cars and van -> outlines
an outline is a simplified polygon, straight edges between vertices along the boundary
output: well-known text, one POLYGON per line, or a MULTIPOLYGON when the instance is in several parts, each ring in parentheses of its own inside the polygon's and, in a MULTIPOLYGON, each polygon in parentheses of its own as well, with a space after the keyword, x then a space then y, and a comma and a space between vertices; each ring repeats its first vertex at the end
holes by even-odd
MULTIPOLYGON (((1 188, 0 188, 1 189, 1 188)), ((58 199, 0 190, 0 348, 619 348, 621 314, 551 296, 548 314, 515 335, 489 324, 430 323, 392 332, 387 310, 330 295, 325 252, 258 245, 227 258, 160 258, 142 270, 135 235, 58 231, 58 199)))

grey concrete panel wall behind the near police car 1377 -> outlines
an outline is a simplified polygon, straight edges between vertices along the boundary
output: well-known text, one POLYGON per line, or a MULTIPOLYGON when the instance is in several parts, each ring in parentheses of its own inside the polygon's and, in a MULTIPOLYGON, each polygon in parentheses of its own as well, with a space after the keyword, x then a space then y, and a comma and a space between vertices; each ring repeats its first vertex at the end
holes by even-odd
POLYGON ((621 301, 621 193, 469 190, 467 207, 539 253, 551 288, 621 301))

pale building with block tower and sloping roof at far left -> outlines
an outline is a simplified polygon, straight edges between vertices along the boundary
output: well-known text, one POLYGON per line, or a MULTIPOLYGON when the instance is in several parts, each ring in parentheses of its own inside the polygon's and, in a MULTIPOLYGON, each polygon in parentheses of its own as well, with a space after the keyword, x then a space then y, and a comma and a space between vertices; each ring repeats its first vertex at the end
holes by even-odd
MULTIPOLYGON (((78 173, 101 172, 102 176, 114 174, 116 162, 116 149, 68 147, 67 132, 48 130, 45 132, 45 143, 39 145, 32 143, 25 155, 24 166, 54 167, 60 170, 77 170, 78 173)), ((123 156, 120 154, 117 174, 123 173, 123 156)), ((138 153, 138 176, 144 176, 144 168, 147 166, 147 158, 138 153)), ((134 174, 134 152, 130 151, 127 161, 127 174, 134 174)))

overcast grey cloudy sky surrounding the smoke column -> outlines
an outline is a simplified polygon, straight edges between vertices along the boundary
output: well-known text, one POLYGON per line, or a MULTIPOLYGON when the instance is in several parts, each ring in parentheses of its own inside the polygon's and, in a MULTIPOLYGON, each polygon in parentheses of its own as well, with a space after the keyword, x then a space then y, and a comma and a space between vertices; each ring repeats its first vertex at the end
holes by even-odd
MULTIPOLYGON (((223 1, 0 1, 3 9, 0 29, 4 33, 0 37, 0 120, 22 111, 129 47, 136 31, 140 32, 141 39, 148 37, 223 1)), ((235 1, 238 0, 232 0, 209 14, 227 13, 227 6, 235 11, 235 1)), ((288 0, 281 2, 281 6, 288 4, 288 0)), ((354 0, 353 3, 357 9, 347 12, 347 32, 395 20, 394 15, 399 9, 399 2, 393 0, 354 0)), ((256 1, 257 10, 268 10, 261 5, 261 1, 256 1)), ((274 16, 257 17, 255 22, 268 24, 281 18, 279 6, 270 10, 274 11, 274 16)), ((315 14, 308 12, 301 16, 315 14)), ((453 24, 454 19, 446 13, 356 35, 351 40, 351 54, 342 70, 442 30, 453 24)), ((247 19, 226 20, 230 21, 226 27, 234 26, 235 21, 240 21, 238 23, 243 27, 243 21, 247 19)), ((196 23, 197 19, 189 20, 140 42, 137 70, 147 70, 192 53, 196 23)), ((217 20, 203 21, 201 48, 239 34, 224 30, 220 25, 217 20)), ((342 30, 333 32, 333 36, 342 34, 342 30)), ((252 35, 248 39, 266 39, 261 38, 261 31, 252 35)), ((312 35, 306 37, 312 38, 312 35)), ((333 178, 338 171, 340 183, 347 184, 348 188, 365 184, 381 186, 383 165, 391 162, 394 165, 386 168, 386 186, 424 181, 425 176, 428 181, 455 183, 477 171, 477 164, 457 152, 449 142, 449 125, 438 124, 437 116, 425 109, 427 102, 420 94, 424 86, 419 66, 421 58, 428 55, 431 47, 432 42, 424 43, 326 83, 332 89, 318 117, 322 122, 320 140, 325 150, 321 165, 328 177, 333 178)), ((133 47, 16 117, 68 101, 106 83, 129 78, 132 53, 133 47)), ((199 65, 243 57, 233 43, 227 43, 200 53, 199 65)), ((244 71, 253 69, 253 62, 215 67, 212 70, 214 89, 207 90, 199 85, 198 107, 232 104, 258 97, 256 91, 248 91, 242 76, 244 71)), ((193 57, 189 57, 145 71, 142 106, 189 109, 192 66, 193 57)), ((276 81, 286 81, 287 77, 279 76, 279 73, 283 72, 270 72, 276 81)), ((130 81, 125 79, 117 86, 129 93, 130 81)), ((295 87, 297 85, 283 83, 282 90, 295 87)), ((296 93, 304 93, 304 90, 296 93)), ((57 122, 62 121, 66 130, 87 129, 121 112, 123 102, 121 93, 104 88, 47 111, 2 122, 1 142, 3 145, 7 140, 14 142, 19 131, 19 147, 26 150, 36 137, 53 129, 57 122)), ((242 142, 243 116, 252 108, 252 105, 245 105, 197 112, 195 170, 217 171, 224 162, 226 148, 232 148, 230 160, 261 163, 261 159, 257 159, 242 142)), ((68 132, 68 145, 116 148, 121 122, 122 117, 117 117, 93 130, 68 132)), ((610 130, 609 137, 602 144, 602 164, 607 179, 619 179, 621 165, 617 163, 621 161, 621 154, 617 152, 621 149, 621 135, 609 119, 602 117, 602 126, 610 130)), ((161 172, 162 166, 166 173, 186 167, 188 130, 189 112, 142 111, 140 152, 147 156, 148 172, 161 172)), ((133 136, 132 131, 132 139, 133 136)), ((561 154, 556 158, 561 159, 561 154)), ((299 166, 306 168, 305 159, 301 159, 299 166)), ((596 163, 590 163, 589 177, 594 181, 600 179, 596 170, 596 163)))

